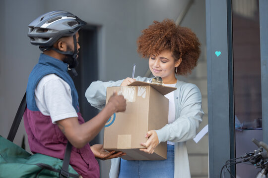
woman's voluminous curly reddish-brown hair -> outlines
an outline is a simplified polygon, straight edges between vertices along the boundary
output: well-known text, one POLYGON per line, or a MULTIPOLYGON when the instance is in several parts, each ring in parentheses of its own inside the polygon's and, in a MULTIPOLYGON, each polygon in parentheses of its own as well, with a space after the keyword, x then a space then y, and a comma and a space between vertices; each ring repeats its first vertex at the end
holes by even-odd
MULTIPOLYGON (((175 61, 182 58, 177 75, 191 74, 200 56, 200 43, 194 32, 187 27, 176 26, 173 20, 153 21, 137 39, 137 52, 144 58, 158 55, 164 50, 173 53, 175 61)), ((174 69, 175 70, 175 69, 174 69)))

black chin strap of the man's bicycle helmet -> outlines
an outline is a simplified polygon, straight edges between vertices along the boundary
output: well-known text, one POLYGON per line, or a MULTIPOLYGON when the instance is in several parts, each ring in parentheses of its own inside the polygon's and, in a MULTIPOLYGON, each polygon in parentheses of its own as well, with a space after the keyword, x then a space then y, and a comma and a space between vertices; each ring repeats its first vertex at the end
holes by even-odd
POLYGON ((52 47, 51 49, 53 49, 53 50, 55 50, 55 51, 57 51, 57 52, 59 52, 59 53, 61 53, 61 54, 71 55, 71 57, 72 57, 72 61, 71 61, 70 64, 67 63, 67 64, 69 64, 69 65, 68 65, 68 69, 70 69, 71 72, 72 72, 72 74, 73 74, 73 76, 76 77, 76 76, 78 75, 77 72, 76 72, 76 70, 75 70, 75 67, 78 65, 78 61, 77 61, 77 43, 76 43, 76 35, 74 34, 72 37, 73 37, 73 45, 74 45, 74 50, 73 50, 73 52, 72 52, 72 51, 61 51, 61 50, 59 50, 59 49, 57 49, 57 48, 55 48, 55 47, 52 47), (69 66, 70 66, 70 68, 69 68, 69 66))

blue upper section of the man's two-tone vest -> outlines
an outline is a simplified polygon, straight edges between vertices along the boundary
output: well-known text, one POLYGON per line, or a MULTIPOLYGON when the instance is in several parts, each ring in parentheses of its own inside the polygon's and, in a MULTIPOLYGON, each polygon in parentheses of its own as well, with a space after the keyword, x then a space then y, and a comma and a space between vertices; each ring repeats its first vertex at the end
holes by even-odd
POLYGON ((62 78, 71 89, 71 97, 72 97, 72 106, 75 108, 76 112, 79 112, 79 104, 78 104, 78 94, 75 89, 74 83, 71 77, 68 74, 68 64, 64 63, 61 60, 55 59, 51 56, 40 54, 39 62, 33 68, 27 84, 27 108, 31 111, 39 111, 36 106, 34 91, 39 83, 39 81, 48 74, 56 74, 60 78, 62 78))

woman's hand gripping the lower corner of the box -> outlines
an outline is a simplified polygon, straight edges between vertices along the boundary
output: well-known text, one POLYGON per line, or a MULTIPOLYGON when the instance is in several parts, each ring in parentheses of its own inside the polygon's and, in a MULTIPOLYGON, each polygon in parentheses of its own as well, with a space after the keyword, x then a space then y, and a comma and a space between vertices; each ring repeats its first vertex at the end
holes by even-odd
POLYGON ((144 151, 145 153, 152 154, 154 152, 155 147, 159 144, 158 135, 154 130, 147 132, 145 135, 148 140, 146 143, 140 143, 141 146, 145 146, 146 148, 140 148, 140 151, 144 151))

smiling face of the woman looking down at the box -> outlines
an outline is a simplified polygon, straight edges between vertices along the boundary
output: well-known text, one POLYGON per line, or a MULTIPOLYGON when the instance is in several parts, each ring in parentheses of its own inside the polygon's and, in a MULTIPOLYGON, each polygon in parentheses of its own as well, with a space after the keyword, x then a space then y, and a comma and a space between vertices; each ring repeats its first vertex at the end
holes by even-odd
MULTIPOLYGON (((154 76, 165 78, 175 78, 175 67, 180 65, 180 60, 175 62, 172 52, 164 50, 159 55, 151 55, 149 58, 149 68, 154 76)), ((164 81, 163 81, 164 82, 164 81)))

